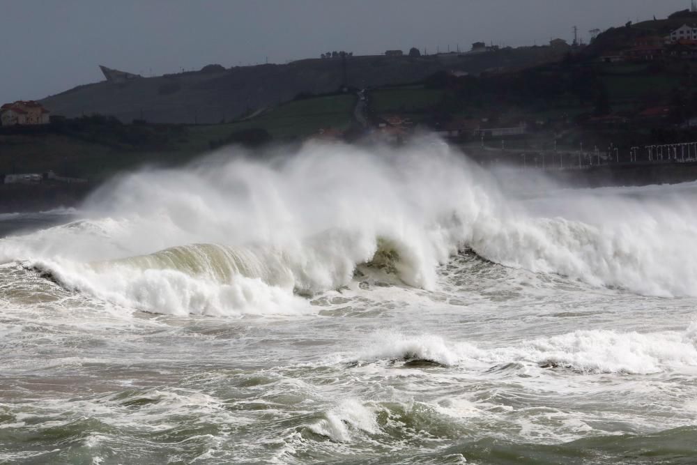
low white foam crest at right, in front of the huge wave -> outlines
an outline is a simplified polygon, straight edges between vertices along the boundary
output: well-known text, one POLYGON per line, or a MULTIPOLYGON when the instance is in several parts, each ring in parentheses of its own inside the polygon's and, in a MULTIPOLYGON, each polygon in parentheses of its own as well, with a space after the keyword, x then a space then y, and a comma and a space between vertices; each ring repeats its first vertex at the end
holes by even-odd
POLYGON ((684 333, 579 330, 486 349, 466 342, 447 342, 434 335, 379 332, 354 357, 358 360, 429 360, 469 369, 528 363, 579 372, 648 374, 697 367, 694 326, 693 323, 684 333))

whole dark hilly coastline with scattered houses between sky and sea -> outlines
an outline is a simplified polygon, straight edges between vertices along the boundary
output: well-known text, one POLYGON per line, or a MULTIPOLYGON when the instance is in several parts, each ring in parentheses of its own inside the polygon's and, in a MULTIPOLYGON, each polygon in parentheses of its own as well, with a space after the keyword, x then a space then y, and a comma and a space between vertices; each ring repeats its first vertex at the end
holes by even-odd
POLYGON ((84 163, 68 167, 66 160, 83 156, 69 153, 70 144, 151 156, 272 140, 401 144, 423 132, 484 163, 523 167, 697 160, 697 6, 665 20, 593 29, 588 44, 573 31, 573 40, 545 45, 477 41, 370 56, 341 50, 286 65, 209 64, 159 77, 100 66, 102 82, 0 107, 0 144, 9 148, 15 137, 0 183, 86 182, 92 174, 84 163), (151 97, 149 107, 139 107, 142 95, 151 97), (94 110, 109 99, 114 106, 94 110), (234 112, 223 106, 230 102, 234 112), (26 152, 16 147, 34 143, 38 153, 42 135, 64 137, 66 147, 52 154, 52 165, 37 158, 23 168, 26 152))

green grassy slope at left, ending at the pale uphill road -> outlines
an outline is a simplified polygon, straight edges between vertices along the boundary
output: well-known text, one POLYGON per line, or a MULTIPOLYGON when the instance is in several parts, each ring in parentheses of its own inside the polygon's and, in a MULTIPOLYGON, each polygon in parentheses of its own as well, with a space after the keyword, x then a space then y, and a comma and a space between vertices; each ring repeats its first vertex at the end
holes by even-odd
POLYGON ((326 96, 279 105, 254 119, 220 125, 192 125, 160 149, 117 146, 111 139, 89 142, 63 134, 0 135, 0 173, 45 172, 84 176, 99 182, 145 164, 186 162, 209 150, 211 140, 250 128, 268 130, 274 140, 305 137, 319 128, 346 129, 355 96, 326 96))

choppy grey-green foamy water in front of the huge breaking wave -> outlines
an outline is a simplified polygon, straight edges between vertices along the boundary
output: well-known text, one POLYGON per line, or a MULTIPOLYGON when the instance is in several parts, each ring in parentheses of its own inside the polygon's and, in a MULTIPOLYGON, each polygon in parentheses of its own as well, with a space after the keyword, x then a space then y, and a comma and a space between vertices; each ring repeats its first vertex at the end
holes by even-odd
POLYGON ((0 457, 697 461, 694 300, 468 256, 440 275, 447 291, 359 281, 307 315, 231 320, 124 314, 3 266, 0 457))

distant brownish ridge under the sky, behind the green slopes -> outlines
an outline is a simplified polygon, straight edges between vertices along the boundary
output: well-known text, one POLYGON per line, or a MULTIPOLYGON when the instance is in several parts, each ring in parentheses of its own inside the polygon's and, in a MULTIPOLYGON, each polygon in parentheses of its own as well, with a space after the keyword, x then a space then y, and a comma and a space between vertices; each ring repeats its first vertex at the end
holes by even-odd
MULTIPOLYGON (((406 84, 442 70, 479 74, 554 61, 561 53, 550 47, 526 47, 483 54, 351 56, 346 60, 346 84, 359 88, 406 84)), ((339 58, 218 69, 144 77, 120 84, 99 82, 41 102, 52 114, 68 118, 96 113, 116 116, 125 123, 134 119, 220 123, 289 101, 299 93, 329 93, 344 84, 339 58)))

